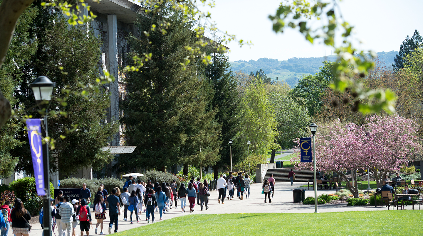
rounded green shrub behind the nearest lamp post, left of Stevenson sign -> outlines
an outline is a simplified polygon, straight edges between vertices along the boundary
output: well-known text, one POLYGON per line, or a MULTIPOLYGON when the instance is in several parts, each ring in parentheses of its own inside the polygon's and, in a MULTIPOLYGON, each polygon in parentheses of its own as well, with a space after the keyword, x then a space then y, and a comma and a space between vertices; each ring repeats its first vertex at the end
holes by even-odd
MULTIPOLYGON (((10 183, 11 189, 14 190, 16 198, 20 198, 24 203, 25 208, 30 212, 31 215, 38 214, 43 204, 42 197, 37 195, 35 188, 35 178, 25 177, 22 179, 16 179, 10 183)), ((50 182, 50 195, 53 196, 54 186, 50 182)))

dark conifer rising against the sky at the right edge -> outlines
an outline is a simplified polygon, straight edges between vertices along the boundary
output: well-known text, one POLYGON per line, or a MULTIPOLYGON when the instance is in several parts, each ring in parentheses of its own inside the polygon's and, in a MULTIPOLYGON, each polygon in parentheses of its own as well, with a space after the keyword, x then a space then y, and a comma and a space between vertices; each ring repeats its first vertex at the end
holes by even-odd
POLYGON ((404 64, 407 64, 405 57, 407 54, 414 52, 415 49, 421 47, 423 38, 420 36, 420 33, 415 30, 413 36, 410 38, 409 35, 402 41, 402 45, 399 47, 398 55, 396 55, 392 67, 394 71, 398 71, 401 68, 404 68, 404 64))

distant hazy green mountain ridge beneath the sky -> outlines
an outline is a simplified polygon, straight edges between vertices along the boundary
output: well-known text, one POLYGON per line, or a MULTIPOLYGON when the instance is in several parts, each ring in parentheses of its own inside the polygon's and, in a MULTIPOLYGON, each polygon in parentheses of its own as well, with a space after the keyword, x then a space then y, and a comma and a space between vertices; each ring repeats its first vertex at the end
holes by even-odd
MULTIPOLYGON (((397 51, 391 52, 378 52, 377 55, 386 68, 392 68, 394 58, 398 54, 397 51)), ((306 57, 306 58, 289 58, 288 60, 280 61, 277 59, 260 58, 258 60, 238 60, 230 62, 233 71, 244 71, 250 74, 251 71, 254 73, 263 69, 264 73, 267 74, 272 80, 286 81, 291 87, 294 87, 298 81, 298 76, 302 74, 316 74, 319 72, 319 67, 323 65, 322 62, 326 60, 335 61, 336 55, 330 55, 326 57, 306 57)))

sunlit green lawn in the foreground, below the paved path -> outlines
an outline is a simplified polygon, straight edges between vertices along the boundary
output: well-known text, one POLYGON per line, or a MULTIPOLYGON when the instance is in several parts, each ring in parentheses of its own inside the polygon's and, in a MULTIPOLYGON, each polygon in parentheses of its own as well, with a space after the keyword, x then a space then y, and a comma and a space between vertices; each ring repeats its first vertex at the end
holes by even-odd
POLYGON ((422 217, 423 211, 196 214, 122 231, 115 236, 422 235, 423 228, 418 226, 422 217))

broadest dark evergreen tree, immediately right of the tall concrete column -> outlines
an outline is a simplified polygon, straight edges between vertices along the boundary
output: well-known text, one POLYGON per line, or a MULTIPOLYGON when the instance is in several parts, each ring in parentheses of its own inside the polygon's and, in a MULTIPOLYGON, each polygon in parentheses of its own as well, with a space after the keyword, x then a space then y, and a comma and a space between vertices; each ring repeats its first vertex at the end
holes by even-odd
POLYGON ((119 157, 118 172, 137 168, 164 171, 184 163, 213 165, 220 132, 214 122, 215 111, 208 106, 213 91, 198 76, 201 62, 192 62, 185 69, 180 65, 189 55, 184 47, 195 43, 191 31, 194 22, 184 22, 183 16, 170 8, 151 17, 140 17, 137 22, 143 32, 149 30, 153 20, 157 28, 148 38, 144 34, 129 37, 132 56, 152 53, 153 57, 126 79, 129 92, 122 102, 122 122, 127 143, 137 148, 119 157))

